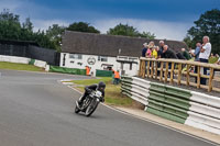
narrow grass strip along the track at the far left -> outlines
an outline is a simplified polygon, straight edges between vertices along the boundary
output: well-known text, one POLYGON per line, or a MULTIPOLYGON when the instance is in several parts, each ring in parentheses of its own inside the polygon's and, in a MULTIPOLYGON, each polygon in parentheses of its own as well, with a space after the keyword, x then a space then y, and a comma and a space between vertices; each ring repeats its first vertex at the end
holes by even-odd
POLYGON ((26 71, 43 71, 42 68, 35 67, 33 65, 14 64, 14 63, 7 63, 7 61, 0 61, 0 69, 13 69, 13 70, 26 70, 26 71))

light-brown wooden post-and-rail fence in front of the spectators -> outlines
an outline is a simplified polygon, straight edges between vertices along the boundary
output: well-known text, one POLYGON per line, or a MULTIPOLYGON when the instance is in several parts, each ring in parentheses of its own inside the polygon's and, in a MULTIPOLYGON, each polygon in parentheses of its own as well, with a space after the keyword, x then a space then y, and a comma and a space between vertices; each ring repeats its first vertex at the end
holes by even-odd
POLYGON ((220 88, 213 86, 213 81, 220 86, 220 77, 215 76, 216 70, 220 71, 219 65, 179 59, 141 57, 139 76, 141 78, 154 78, 163 82, 170 82, 170 85, 176 82, 177 85, 207 89, 209 92, 212 90, 220 92, 220 88), (193 71, 196 68, 197 72, 193 71), (204 68, 209 69, 209 75, 204 75, 204 68), (190 77, 194 77, 197 81, 193 82, 190 77), (200 83, 201 78, 208 80, 206 85, 200 83))

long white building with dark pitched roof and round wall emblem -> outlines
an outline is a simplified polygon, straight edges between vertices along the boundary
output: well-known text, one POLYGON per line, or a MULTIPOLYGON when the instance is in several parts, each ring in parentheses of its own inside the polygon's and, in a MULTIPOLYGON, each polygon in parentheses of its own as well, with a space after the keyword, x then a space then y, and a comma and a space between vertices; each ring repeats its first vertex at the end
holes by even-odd
MULTIPOLYGON (((142 44, 145 38, 100 35, 66 31, 63 35, 61 67, 96 70, 119 70, 121 75, 136 76, 142 44)), ((158 40, 154 40, 158 43, 158 40)), ((173 41, 166 41, 172 44, 173 41)), ((182 42, 175 42, 185 45, 182 42)), ((179 48, 182 48, 179 47, 179 48)))

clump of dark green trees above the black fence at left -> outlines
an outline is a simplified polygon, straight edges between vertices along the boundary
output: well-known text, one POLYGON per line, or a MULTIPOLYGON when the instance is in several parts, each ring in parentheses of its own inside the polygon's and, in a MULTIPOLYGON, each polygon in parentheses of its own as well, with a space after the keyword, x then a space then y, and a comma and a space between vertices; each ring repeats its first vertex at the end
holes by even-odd
POLYGON ((41 47, 56 49, 55 41, 51 40, 51 35, 46 35, 44 31, 33 32, 33 23, 28 18, 24 23, 20 23, 20 16, 4 9, 0 13, 0 38, 15 41, 33 41, 41 47))

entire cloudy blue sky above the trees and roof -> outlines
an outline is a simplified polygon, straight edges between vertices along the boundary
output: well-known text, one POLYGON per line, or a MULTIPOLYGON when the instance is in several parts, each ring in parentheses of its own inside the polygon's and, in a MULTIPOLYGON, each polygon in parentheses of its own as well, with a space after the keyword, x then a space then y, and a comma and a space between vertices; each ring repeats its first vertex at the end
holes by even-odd
POLYGON ((220 9, 220 0, 0 0, 3 9, 21 21, 31 18, 35 30, 84 21, 106 33, 123 23, 157 38, 182 41, 201 13, 220 9))

